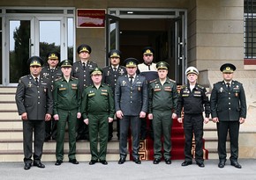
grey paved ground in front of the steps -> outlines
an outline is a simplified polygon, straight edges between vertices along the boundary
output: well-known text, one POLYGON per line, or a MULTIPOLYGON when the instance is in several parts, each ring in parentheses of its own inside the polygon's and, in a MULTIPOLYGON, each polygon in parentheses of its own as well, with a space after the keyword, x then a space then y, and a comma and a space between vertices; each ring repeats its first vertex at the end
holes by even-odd
POLYGON ((188 167, 181 167, 183 161, 173 161, 171 165, 161 162, 154 165, 151 161, 142 162, 140 165, 134 162, 125 162, 122 165, 117 162, 109 162, 104 166, 96 163, 92 166, 88 162, 80 162, 74 165, 64 162, 57 167, 54 162, 44 162, 45 169, 32 167, 29 170, 23 169, 23 162, 0 162, 0 179, 2 180, 30 180, 30 179, 101 179, 101 180, 158 180, 158 179, 225 179, 225 180, 253 180, 256 179, 256 159, 239 160, 242 169, 230 166, 227 161, 223 169, 217 167, 217 160, 207 160, 205 168, 199 168, 195 163, 188 167))

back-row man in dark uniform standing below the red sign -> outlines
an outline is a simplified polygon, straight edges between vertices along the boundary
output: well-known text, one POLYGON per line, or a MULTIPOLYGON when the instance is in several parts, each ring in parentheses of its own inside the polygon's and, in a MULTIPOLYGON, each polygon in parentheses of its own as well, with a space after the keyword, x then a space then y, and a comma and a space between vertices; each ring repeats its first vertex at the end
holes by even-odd
MULTIPOLYGON (((79 79, 79 90, 81 94, 87 85, 93 84, 90 72, 98 67, 94 61, 90 61, 92 48, 86 44, 78 47, 79 61, 76 61, 72 66, 72 76, 79 79)), ((77 140, 88 140, 88 126, 83 122, 83 119, 78 119, 77 140)))

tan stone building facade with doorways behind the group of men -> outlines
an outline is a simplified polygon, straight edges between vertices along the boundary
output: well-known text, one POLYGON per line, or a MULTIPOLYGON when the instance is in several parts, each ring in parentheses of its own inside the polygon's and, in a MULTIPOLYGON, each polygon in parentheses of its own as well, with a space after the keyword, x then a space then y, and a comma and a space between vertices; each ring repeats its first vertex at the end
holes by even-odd
MULTIPOLYGON (((104 67, 112 48, 123 52, 122 60, 141 61, 142 48, 152 46, 154 61, 168 61, 169 77, 178 84, 186 83, 184 69, 195 66, 200 70, 199 83, 210 90, 222 80, 222 63, 235 64, 235 78, 245 85, 251 119, 256 112, 252 91, 256 63, 253 55, 249 59, 245 55, 248 2, 254 4, 249 0, 1 0, 0 86, 15 86, 29 70, 28 57, 45 59, 49 50, 59 51, 61 60, 77 61, 76 48, 85 43, 92 47, 92 61, 104 67), (91 16, 80 17, 79 10, 91 16), (91 10, 103 10, 105 15, 95 18, 97 13, 91 10), (90 20, 103 25, 88 25, 90 20)), ((244 131, 252 132, 247 127, 244 131)))

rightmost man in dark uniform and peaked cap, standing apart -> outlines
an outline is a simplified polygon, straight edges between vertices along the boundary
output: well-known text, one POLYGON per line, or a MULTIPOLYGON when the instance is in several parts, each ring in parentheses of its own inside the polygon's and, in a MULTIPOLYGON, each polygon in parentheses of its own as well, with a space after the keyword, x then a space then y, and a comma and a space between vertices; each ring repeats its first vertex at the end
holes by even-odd
POLYGON ((239 126, 246 119, 246 99, 243 84, 233 80, 236 67, 225 63, 220 68, 223 81, 214 84, 211 93, 211 114, 217 123, 219 168, 224 168, 226 162, 227 134, 230 134, 230 164, 238 169, 242 166, 238 159, 239 126))

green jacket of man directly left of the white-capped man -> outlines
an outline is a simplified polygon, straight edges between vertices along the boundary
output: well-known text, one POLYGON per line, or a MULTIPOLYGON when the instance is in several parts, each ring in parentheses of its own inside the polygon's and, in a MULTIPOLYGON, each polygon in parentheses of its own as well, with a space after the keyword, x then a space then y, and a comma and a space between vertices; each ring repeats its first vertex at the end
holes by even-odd
POLYGON ((176 113, 177 109, 177 84, 167 77, 162 85, 159 78, 149 83, 149 104, 148 112, 153 110, 172 111, 176 113))

